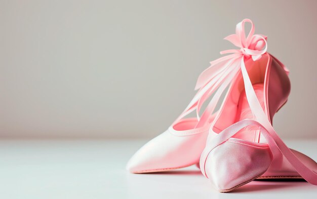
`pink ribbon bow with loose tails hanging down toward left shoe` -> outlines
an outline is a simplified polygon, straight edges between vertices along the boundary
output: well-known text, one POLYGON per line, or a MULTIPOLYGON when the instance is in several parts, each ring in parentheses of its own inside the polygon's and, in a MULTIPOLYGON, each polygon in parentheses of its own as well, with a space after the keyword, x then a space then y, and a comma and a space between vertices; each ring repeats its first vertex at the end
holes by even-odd
MULTIPOLYGON (((204 126, 209 121, 225 88, 240 71, 241 60, 244 58, 260 59, 267 50, 266 36, 254 34, 254 25, 250 19, 245 19, 237 24, 235 34, 231 34, 224 39, 240 49, 221 51, 220 54, 232 54, 210 62, 211 66, 203 71, 197 79, 195 90, 199 90, 173 124, 176 124, 181 118, 196 109, 197 119, 199 120, 196 128, 204 126), (247 37, 245 35, 246 22, 250 22, 252 25, 247 37), (204 110, 202 117, 200 117, 199 112, 202 105, 213 93, 215 93, 214 97, 204 110)), ((285 68, 285 70, 287 69, 285 68)))

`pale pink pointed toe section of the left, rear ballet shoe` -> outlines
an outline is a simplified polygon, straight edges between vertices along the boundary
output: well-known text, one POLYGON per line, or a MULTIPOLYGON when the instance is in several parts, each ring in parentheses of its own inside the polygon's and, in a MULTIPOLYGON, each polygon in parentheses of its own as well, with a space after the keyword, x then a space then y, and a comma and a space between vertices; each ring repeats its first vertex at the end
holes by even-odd
POLYGON ((150 173, 193 165, 199 161, 205 141, 203 135, 182 137, 166 131, 142 146, 126 169, 131 173, 150 173))

